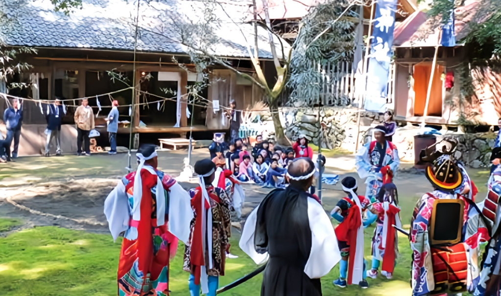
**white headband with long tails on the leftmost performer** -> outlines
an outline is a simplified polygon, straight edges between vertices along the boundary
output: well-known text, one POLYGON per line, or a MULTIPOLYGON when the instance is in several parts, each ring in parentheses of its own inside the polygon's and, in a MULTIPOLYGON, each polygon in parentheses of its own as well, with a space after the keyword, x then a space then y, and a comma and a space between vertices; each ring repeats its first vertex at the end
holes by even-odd
MULTIPOLYGON (((151 174, 155 174, 155 171, 150 166, 144 166, 146 160, 150 160, 157 156, 156 151, 154 151, 150 156, 145 157, 141 153, 136 153, 139 159, 139 165, 137 166, 136 175, 134 176, 134 190, 133 190, 133 205, 132 205, 132 219, 135 221, 141 220, 141 198, 143 196, 143 182, 141 179, 141 169, 148 170, 151 174)), ((157 175, 157 186, 156 186, 156 207, 157 207, 157 226, 162 226, 165 224, 165 190, 162 185, 162 180, 157 175)))

